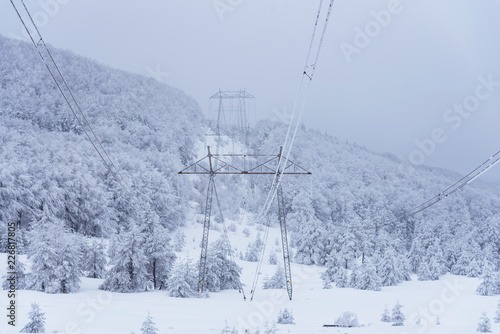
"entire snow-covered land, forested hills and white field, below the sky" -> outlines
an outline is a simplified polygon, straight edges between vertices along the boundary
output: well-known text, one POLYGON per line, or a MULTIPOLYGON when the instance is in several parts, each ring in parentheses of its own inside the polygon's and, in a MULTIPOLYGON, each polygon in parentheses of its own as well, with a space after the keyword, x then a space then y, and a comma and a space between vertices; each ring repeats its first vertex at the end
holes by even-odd
MULTIPOLYGON (((282 182, 293 300, 285 290, 263 289, 282 264, 275 206, 249 300, 266 239, 264 222, 254 219, 269 175, 216 177, 222 215, 217 203, 210 292, 196 298, 208 177, 177 172, 202 158, 207 145, 215 151, 215 138, 202 135, 213 131, 197 103, 152 79, 54 51, 132 188, 127 192, 66 110, 32 46, 0 36, 0 50, 0 262, 7 263, 7 224, 15 223, 19 273, 19 262, 26 265, 20 326, 35 302, 50 333, 139 333, 148 311, 159 333, 220 333, 226 321, 239 333, 272 333, 285 307, 296 324, 276 326, 290 333, 465 334, 475 331, 483 311, 493 319, 500 298, 499 188, 478 180, 399 218, 460 176, 305 127, 289 158, 312 175, 282 182), (237 266, 220 238, 222 216, 237 266), (235 289, 239 280, 246 301, 235 289), (398 302, 404 326, 381 322, 384 309, 398 302), (360 327, 322 327, 346 311, 360 327)), ((219 153, 276 155, 286 131, 286 124, 262 121, 248 147, 225 135, 219 153)), ((4 332, 12 332, 6 321, 4 332)))

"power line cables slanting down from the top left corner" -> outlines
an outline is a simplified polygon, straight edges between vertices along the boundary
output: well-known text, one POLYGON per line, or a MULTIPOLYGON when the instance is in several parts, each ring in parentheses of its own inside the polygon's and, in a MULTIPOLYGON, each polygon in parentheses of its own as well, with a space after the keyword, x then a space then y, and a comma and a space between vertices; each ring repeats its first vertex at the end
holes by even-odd
POLYGON ((64 76, 62 75, 62 73, 61 73, 61 71, 59 69, 59 66, 57 65, 56 61, 52 57, 52 53, 50 52, 49 48, 45 44, 45 41, 44 41, 44 39, 43 39, 40 31, 38 30, 38 27, 37 27, 35 21, 33 20, 33 17, 31 16, 31 13, 29 12, 28 8, 26 7, 26 5, 24 3, 24 0, 20 0, 20 1, 21 1, 22 5, 24 7, 24 10, 26 11, 26 14, 28 15, 28 17, 29 17, 29 19, 31 21, 31 24, 33 25, 33 27, 36 30, 36 33, 38 35, 38 38, 37 38, 38 41, 37 42, 35 42, 35 39, 33 38, 33 35, 31 33, 31 31, 29 30, 28 26, 26 25, 26 22, 23 20, 22 15, 19 12, 17 6, 14 4, 13 0, 10 0, 10 3, 12 4, 12 7, 16 11, 17 16, 21 20, 21 23, 23 24, 24 28, 26 29, 26 32, 28 33, 28 36, 31 39, 31 42, 35 46, 35 49, 37 50, 38 54, 40 55, 40 58, 44 62, 45 67, 49 71, 49 74, 50 74, 52 80, 54 81, 54 83, 56 84, 57 89, 59 90, 59 92, 63 96, 64 100, 66 101, 66 104, 70 108, 71 112, 73 113, 73 115, 75 116, 76 120, 80 124, 83 132, 85 133, 87 139, 90 141, 90 143, 92 144, 94 150, 97 152, 97 154, 99 155, 99 157, 101 158, 101 160, 104 162, 104 164, 109 169, 109 171, 113 174, 113 176, 115 177, 115 179, 119 182, 119 184, 121 185, 121 187, 127 193, 130 193, 131 192, 131 188, 126 184, 125 180, 119 175, 119 171, 116 168, 115 164, 113 163, 113 160, 108 155, 108 153, 106 152, 106 150, 102 146, 101 141, 99 140, 99 138, 95 134, 94 130, 92 129, 92 126, 90 125, 90 122, 87 120, 87 117, 83 113, 83 111, 82 111, 82 109, 81 109, 78 101, 76 100, 75 96, 73 95, 73 92, 69 88, 69 86, 68 86, 68 84, 67 84, 64 76), (45 53, 48 55, 47 58, 42 54, 42 51, 40 50, 40 46, 43 48, 43 50, 45 51, 45 53), (48 59, 50 59, 50 61, 48 61, 48 59), (55 68, 55 71, 50 68, 50 64, 52 64, 52 66, 55 68), (62 81, 62 84, 60 84, 59 81, 57 80, 55 73, 57 73, 59 75, 59 77, 60 77, 60 79, 62 81), (63 88, 65 88, 67 90, 67 93, 64 92, 63 88), (67 95, 67 94, 69 94, 69 95, 67 95), (76 106, 76 108, 74 106, 72 106, 71 101, 73 101, 73 103, 76 106), (78 114, 75 111, 75 109, 78 110, 78 112, 80 113, 81 119, 78 116, 78 114), (83 119, 84 122, 82 122, 82 119, 83 119), (92 139, 92 137, 90 136, 89 131, 86 130, 85 124, 89 128, 90 133, 92 134, 92 136, 94 137, 94 139, 92 139), (98 147, 100 148, 100 150, 99 150, 98 147))

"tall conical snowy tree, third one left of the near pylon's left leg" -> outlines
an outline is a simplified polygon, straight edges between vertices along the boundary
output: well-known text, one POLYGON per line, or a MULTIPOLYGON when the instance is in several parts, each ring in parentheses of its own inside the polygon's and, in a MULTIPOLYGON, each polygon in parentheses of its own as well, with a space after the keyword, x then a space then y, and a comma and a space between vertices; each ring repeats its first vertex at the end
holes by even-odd
POLYGON ((133 225, 129 231, 116 234, 116 247, 111 257, 113 267, 99 286, 101 290, 115 292, 145 291, 150 282, 147 258, 144 255, 144 237, 133 225))

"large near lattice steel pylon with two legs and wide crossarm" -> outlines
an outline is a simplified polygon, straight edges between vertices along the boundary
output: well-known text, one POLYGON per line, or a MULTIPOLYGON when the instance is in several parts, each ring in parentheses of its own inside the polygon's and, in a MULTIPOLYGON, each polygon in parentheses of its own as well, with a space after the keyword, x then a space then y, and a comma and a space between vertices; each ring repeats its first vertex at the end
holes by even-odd
MULTIPOLYGON (((216 175, 311 175, 311 172, 305 170, 295 162, 286 159, 282 155, 282 148, 277 155, 259 155, 259 154, 212 154, 210 146, 207 147, 208 154, 202 159, 196 161, 192 165, 186 167, 179 174, 204 174, 209 175, 207 198, 205 205, 205 218, 203 220, 203 237, 201 243, 200 255, 200 270, 198 280, 198 293, 203 293, 206 287, 206 264, 208 250, 208 233, 210 230, 210 217, 212 215, 212 202, 215 190, 216 175), (255 162, 254 160, 264 160, 263 162, 255 162), (230 162, 228 160, 231 160, 230 162), (249 166, 253 161, 253 166, 249 166), (280 162, 286 161, 286 165, 281 170, 277 170, 281 166, 280 162)), ((288 251, 288 236, 286 229, 286 212, 283 198, 283 189, 281 183, 278 182, 275 189, 278 199, 278 216, 280 221, 281 245, 283 248, 283 262, 285 267, 286 289, 290 300, 292 299, 292 273, 290 268, 290 255, 288 251)))

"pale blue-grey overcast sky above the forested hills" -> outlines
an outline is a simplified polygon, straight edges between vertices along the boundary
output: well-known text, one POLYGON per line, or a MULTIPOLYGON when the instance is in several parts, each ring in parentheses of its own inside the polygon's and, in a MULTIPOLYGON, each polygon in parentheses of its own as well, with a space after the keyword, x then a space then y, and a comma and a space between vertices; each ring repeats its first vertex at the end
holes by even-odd
MULTIPOLYGON (((205 112, 219 88, 245 88, 256 116, 275 119, 292 109, 319 4, 25 2, 47 43, 154 76, 205 112)), ((500 0, 336 0, 303 121, 466 173, 500 150, 499 31, 500 0)), ((23 35, 10 1, 0 3, 0 34, 23 35)), ((500 165, 484 179, 500 182, 500 165)))

